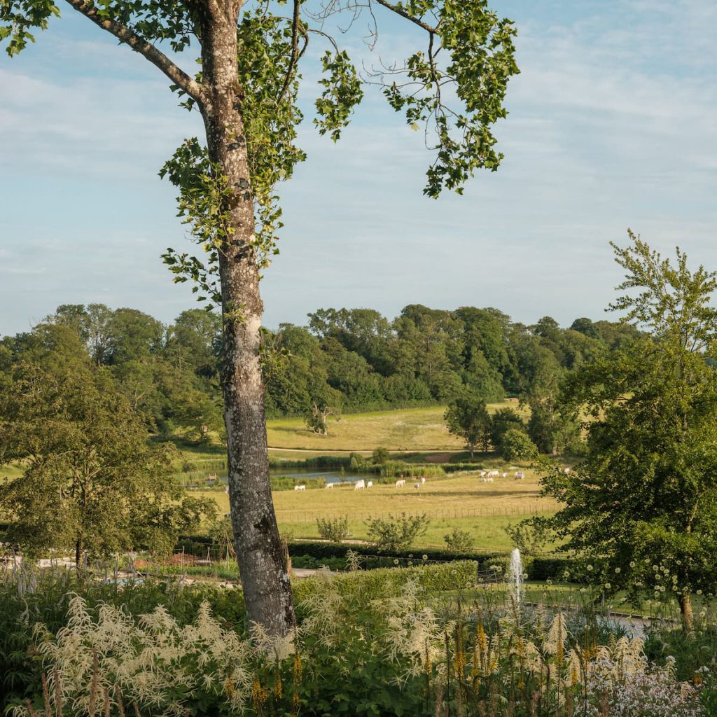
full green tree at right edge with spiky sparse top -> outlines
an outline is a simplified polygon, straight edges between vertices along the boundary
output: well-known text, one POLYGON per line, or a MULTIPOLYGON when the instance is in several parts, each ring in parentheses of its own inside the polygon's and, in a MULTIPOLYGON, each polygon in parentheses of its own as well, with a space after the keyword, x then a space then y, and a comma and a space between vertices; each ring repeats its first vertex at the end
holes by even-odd
POLYGON ((630 239, 613 244, 626 293, 610 308, 649 333, 571 376, 587 456, 543 490, 566 505, 549 521, 561 549, 604 561, 612 589, 676 594, 689 629, 690 595, 717 578, 717 274, 630 239))

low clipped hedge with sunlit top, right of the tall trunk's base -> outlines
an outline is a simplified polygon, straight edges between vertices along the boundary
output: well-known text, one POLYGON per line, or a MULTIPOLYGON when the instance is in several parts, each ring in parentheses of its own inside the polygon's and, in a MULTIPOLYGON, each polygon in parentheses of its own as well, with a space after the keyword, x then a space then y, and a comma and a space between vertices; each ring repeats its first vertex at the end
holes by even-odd
MULTIPOLYGON (((432 592, 473 587, 477 569, 475 561, 463 560, 442 565, 359 570, 332 574, 331 586, 342 597, 374 600, 395 597, 409 580, 416 581, 419 586, 432 592)), ((320 590, 325 579, 316 576, 294 581, 295 600, 302 602, 309 594, 320 590)))

